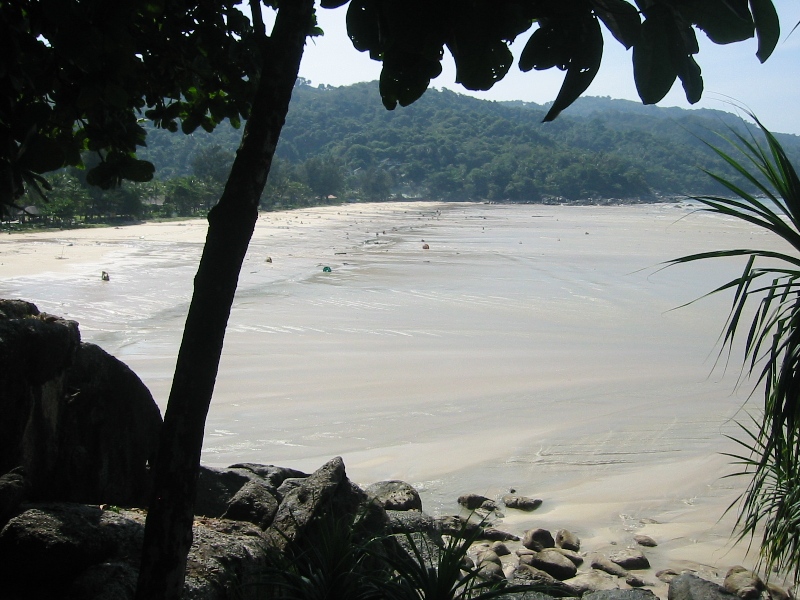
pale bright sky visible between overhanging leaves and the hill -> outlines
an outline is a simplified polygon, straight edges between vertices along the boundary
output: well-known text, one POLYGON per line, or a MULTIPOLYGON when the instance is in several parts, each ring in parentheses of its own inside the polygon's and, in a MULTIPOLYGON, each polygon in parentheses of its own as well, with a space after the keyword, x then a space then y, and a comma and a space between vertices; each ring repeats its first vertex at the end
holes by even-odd
MULTIPOLYGON (((683 94, 680 82, 659 102, 659 106, 681 108, 713 108, 736 112, 734 105, 754 112, 771 130, 800 135, 800 28, 789 34, 800 22, 800 2, 773 0, 781 19, 781 40, 775 52, 763 65, 755 56, 756 40, 727 46, 710 42, 698 32, 700 53, 695 59, 703 71, 703 98, 691 105, 683 94)), ((308 43, 300 67, 300 76, 312 85, 349 85, 376 81, 380 63, 353 48, 347 37, 347 6, 318 9, 318 20, 325 35, 308 43)), ((524 47, 530 33, 520 36, 512 45, 515 57, 524 47)), ((564 73, 558 69, 522 73, 516 66, 488 92, 471 92, 454 83, 455 67, 445 51, 443 73, 431 82, 436 88, 448 88, 487 100, 524 100, 543 104, 555 99, 564 73)), ((379 102, 377 84, 376 102, 379 102)), ((610 36, 606 38, 603 64, 585 96, 610 96, 639 101, 633 81, 631 52, 610 36)), ((398 108, 397 110, 402 110, 398 108)), ((569 109, 563 114, 568 115, 569 109)))

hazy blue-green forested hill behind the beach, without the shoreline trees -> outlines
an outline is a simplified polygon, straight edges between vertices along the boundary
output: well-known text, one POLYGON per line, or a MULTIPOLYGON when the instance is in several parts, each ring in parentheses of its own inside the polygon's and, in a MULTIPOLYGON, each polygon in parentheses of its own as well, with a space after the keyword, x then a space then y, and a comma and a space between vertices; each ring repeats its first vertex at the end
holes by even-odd
MULTIPOLYGON (((275 178, 303 173, 311 159, 339 169, 345 179, 382 176, 390 182, 383 188, 393 195, 426 198, 541 201, 711 193, 720 190, 702 169, 729 170, 704 140, 728 151, 715 132, 730 137, 729 127, 743 127, 738 117, 722 111, 610 98, 581 98, 552 123, 541 122, 546 110, 429 90, 413 105, 387 111, 375 82, 339 88, 301 82, 278 147, 282 165, 275 178)), ((154 131, 143 157, 156 163, 159 177, 188 175, 201 148, 219 145, 232 155, 240 136, 225 125, 192 136, 154 131)), ((800 136, 779 138, 790 156, 800 157, 800 136)))

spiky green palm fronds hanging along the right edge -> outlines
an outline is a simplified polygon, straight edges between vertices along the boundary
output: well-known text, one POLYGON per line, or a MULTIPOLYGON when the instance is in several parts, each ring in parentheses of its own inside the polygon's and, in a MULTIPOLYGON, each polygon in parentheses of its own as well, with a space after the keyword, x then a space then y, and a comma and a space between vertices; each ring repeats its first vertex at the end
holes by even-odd
POLYGON ((759 142, 731 130, 727 141, 744 158, 736 160, 709 146, 757 194, 719 175, 708 173, 735 197, 700 196, 708 212, 735 217, 761 227, 789 244, 787 252, 736 249, 684 256, 668 264, 720 257, 748 257, 742 274, 713 290, 734 290, 734 300, 722 336, 730 352, 733 340, 756 302, 744 348, 744 365, 764 385, 764 410, 736 440, 746 452, 731 455, 750 477, 738 506, 738 539, 752 541, 763 527, 760 560, 767 572, 778 570, 800 577, 800 178, 775 136, 754 116, 764 135, 759 142), (759 266, 756 266, 758 261, 759 266), (752 301, 752 302, 751 302, 752 301))

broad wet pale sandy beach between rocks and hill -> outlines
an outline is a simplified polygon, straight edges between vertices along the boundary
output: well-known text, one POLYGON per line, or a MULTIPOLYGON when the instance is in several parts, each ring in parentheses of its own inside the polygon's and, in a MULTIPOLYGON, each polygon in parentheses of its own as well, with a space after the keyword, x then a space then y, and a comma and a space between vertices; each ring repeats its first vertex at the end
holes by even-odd
MULTIPOLYGON (((78 321, 163 410, 205 231, 2 233, 0 297, 78 321)), ((658 267, 771 243, 686 204, 265 213, 203 460, 313 470, 340 455, 354 481, 406 480, 433 513, 514 487, 544 504, 505 511, 503 529, 566 527, 593 550, 646 533, 654 571, 752 566, 722 518, 746 483, 721 479, 725 435, 759 399, 736 388, 740 354, 714 369, 730 296, 677 308, 743 263, 658 267)))

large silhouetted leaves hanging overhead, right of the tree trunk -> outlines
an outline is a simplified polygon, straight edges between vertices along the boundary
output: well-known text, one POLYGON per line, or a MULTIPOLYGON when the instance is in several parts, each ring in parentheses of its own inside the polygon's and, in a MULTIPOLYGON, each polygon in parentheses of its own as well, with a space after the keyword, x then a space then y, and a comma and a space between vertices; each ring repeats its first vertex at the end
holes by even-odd
MULTIPOLYGON (((323 0, 333 8, 347 0, 323 0)), ((694 60, 695 28, 727 44, 758 36, 757 56, 769 57, 780 35, 770 0, 350 0, 347 31, 357 50, 383 62, 381 97, 407 106, 441 73, 444 48, 456 82, 488 90, 513 63, 509 44, 532 27, 519 68, 566 71, 546 121, 555 119, 594 79, 603 55, 600 23, 633 48, 634 78, 646 104, 661 100, 680 79, 691 103, 703 79, 694 60), (535 27, 534 27, 535 26, 535 27)))

